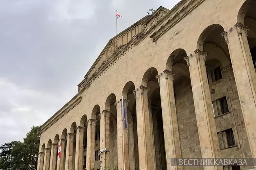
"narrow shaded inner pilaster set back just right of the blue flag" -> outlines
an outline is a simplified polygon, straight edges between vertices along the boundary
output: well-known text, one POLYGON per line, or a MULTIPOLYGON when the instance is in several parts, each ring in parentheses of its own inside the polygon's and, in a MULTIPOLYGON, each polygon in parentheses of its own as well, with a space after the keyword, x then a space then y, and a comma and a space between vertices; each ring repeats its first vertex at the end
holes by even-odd
POLYGON ((129 144, 129 167, 130 170, 135 170, 135 149, 134 149, 134 133, 133 133, 133 116, 128 117, 128 144, 129 144))

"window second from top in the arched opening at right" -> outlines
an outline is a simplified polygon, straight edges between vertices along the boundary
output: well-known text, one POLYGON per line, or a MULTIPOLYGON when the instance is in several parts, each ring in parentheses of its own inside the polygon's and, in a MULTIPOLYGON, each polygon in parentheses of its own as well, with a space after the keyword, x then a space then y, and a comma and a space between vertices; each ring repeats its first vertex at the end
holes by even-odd
POLYGON ((212 104, 215 117, 229 112, 226 96, 213 101, 212 104))

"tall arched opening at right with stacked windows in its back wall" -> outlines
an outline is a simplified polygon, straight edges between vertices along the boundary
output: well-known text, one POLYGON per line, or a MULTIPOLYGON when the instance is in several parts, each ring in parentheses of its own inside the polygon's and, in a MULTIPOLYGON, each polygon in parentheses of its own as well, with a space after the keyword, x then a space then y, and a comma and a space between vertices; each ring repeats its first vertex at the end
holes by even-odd
MULTIPOLYGON (((243 120, 241 119, 243 115, 230 62, 228 44, 221 36, 223 32, 223 27, 218 24, 208 26, 199 38, 201 46, 198 48, 207 53, 205 67, 221 157, 233 155, 240 157, 242 152, 239 149, 234 149, 238 144, 238 140, 235 141, 235 138, 239 138, 235 131, 237 130, 239 134, 245 129, 243 125, 237 127, 238 129, 234 126, 235 121, 243 120), (234 115, 237 116, 237 119, 233 119, 234 115)), ((245 151, 244 149, 245 147, 241 150, 245 151)))

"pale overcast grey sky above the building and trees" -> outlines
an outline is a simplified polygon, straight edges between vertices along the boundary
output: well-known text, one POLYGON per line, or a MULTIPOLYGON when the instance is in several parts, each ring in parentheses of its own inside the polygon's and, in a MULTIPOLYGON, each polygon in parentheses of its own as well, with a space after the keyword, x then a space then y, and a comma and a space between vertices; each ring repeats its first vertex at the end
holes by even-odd
POLYGON ((76 95, 118 31, 179 0, 0 0, 0 145, 23 140, 76 95))

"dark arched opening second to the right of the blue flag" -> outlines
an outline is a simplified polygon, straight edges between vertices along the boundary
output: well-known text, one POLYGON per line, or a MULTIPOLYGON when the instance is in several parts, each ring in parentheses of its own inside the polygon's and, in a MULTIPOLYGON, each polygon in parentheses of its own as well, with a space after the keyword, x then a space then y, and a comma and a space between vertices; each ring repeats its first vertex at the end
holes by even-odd
POLYGON ((157 75, 156 68, 149 68, 143 76, 142 85, 150 88, 148 91, 148 106, 152 135, 152 158, 155 162, 153 166, 156 169, 167 170, 160 87, 155 77, 157 75))

